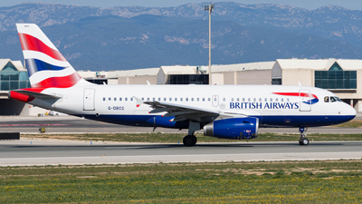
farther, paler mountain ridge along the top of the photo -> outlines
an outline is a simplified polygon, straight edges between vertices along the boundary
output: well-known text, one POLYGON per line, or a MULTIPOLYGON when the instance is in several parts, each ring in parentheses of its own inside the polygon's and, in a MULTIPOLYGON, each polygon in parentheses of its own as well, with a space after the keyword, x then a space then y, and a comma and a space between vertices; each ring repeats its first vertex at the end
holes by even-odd
MULTIPOLYGON (((89 16, 161 15, 196 20, 208 18, 204 5, 187 4, 176 7, 116 6, 98 8, 78 5, 27 3, 0 7, 0 31, 14 30, 15 23, 40 26, 65 24, 89 16)), ((233 21, 242 25, 277 28, 296 34, 315 34, 329 40, 362 46, 362 11, 328 5, 307 10, 290 5, 243 5, 220 2, 214 6, 213 20, 233 21)))

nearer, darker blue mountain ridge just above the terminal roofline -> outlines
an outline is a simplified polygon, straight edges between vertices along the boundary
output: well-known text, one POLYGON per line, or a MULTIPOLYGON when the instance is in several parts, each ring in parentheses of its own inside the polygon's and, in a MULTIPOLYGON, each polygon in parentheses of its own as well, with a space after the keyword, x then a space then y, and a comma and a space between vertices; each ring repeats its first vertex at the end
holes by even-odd
MULTIPOLYGON (((43 32, 78 70, 128 70, 171 64, 208 63, 204 20, 138 15, 87 17, 43 27, 43 32)), ((278 58, 358 58, 362 48, 311 34, 214 21, 214 64, 274 61, 278 58)), ((0 33, 4 58, 22 59, 15 31, 0 33)))

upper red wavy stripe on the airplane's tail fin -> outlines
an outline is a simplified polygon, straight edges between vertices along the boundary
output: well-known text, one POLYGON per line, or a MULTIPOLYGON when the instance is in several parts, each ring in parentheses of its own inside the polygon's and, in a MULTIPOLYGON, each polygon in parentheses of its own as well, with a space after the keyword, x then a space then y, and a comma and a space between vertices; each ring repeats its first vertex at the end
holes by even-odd
POLYGON ((29 34, 19 34, 19 38, 20 38, 20 44, 22 44, 23 50, 31 50, 31 51, 37 51, 40 53, 45 53, 55 60, 67 62, 67 60, 62 56, 62 53, 48 47, 48 45, 44 44, 38 38, 35 38, 29 34))

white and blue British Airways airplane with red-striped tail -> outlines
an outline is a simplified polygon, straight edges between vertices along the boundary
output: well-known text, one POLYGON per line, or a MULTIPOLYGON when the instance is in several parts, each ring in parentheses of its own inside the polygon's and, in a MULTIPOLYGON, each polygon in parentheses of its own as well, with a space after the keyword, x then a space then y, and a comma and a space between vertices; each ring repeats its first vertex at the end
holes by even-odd
POLYGON ((44 109, 115 124, 188 129, 183 143, 194 146, 195 131, 223 139, 252 139, 260 127, 296 127, 308 145, 309 127, 356 117, 333 92, 286 85, 106 85, 76 73, 36 24, 16 24, 31 88, 10 99, 44 109))

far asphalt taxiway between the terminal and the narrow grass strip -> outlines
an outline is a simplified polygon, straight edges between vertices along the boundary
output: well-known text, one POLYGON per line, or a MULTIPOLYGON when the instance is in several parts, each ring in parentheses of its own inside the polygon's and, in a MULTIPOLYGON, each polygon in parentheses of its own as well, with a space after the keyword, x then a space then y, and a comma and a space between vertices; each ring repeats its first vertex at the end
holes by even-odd
MULTIPOLYGON (((361 114, 355 120, 360 120, 361 114)), ((152 127, 133 127, 125 125, 110 124, 100 121, 90 121, 72 116, 44 116, 44 117, 0 117, 0 132, 21 132, 37 133, 39 128, 45 127, 48 133, 73 133, 73 132, 121 132, 140 133, 152 132, 152 127)), ((185 133, 187 130, 157 128, 155 132, 164 133, 185 133)), ((197 132, 203 132, 197 131, 197 132)), ((299 133, 298 128, 260 128, 259 132, 272 133, 299 133)), ((333 127, 313 127, 307 133, 340 133, 358 134, 362 133, 362 128, 333 128, 333 127)))

